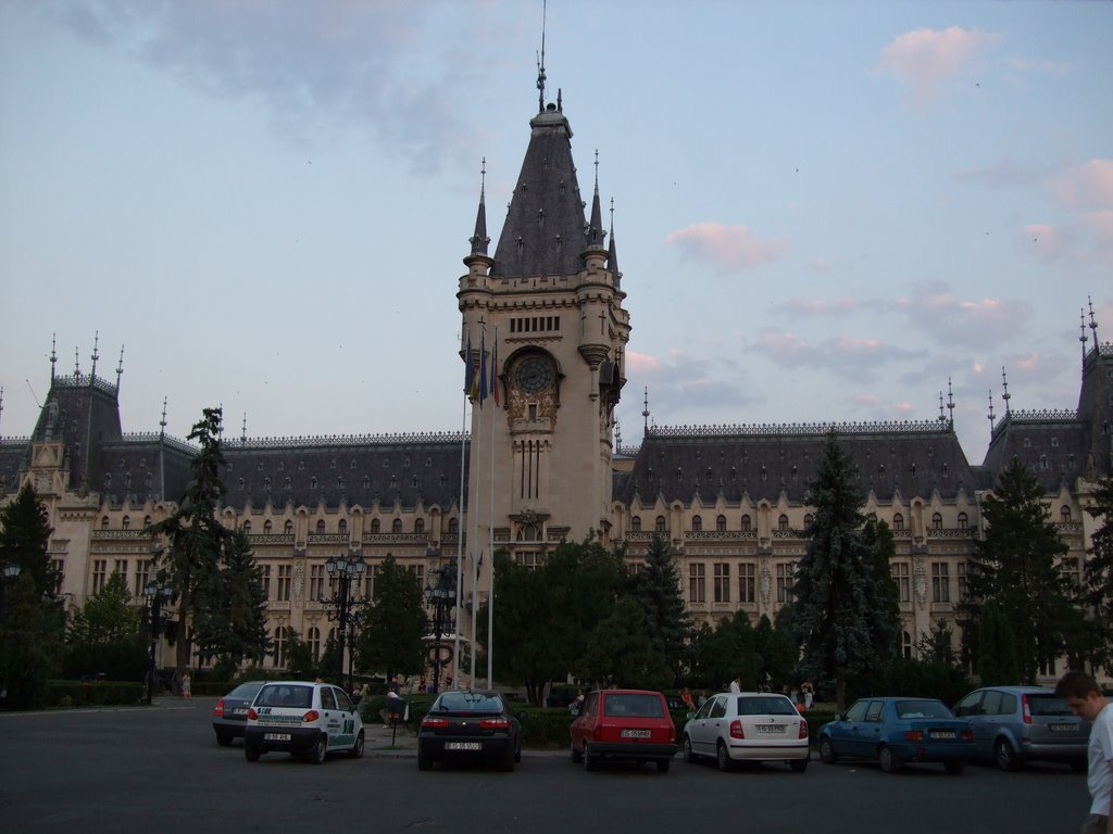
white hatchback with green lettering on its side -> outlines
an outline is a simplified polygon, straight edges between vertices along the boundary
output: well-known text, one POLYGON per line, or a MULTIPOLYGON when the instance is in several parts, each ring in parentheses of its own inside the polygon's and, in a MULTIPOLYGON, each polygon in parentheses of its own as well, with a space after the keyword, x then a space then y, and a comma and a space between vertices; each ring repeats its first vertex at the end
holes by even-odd
POLYGON ((359 711, 338 686, 305 681, 267 683, 247 711, 244 754, 248 762, 272 751, 321 764, 336 751, 363 755, 359 711))

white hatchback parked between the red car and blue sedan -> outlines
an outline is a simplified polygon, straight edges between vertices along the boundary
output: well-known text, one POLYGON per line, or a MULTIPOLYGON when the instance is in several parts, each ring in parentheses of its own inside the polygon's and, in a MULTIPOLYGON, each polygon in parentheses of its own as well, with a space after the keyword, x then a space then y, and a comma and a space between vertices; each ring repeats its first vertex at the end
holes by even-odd
POLYGON ((810 756, 808 722, 776 693, 712 695, 684 724, 681 743, 686 762, 713 757, 720 771, 736 762, 787 762, 804 773, 810 756))

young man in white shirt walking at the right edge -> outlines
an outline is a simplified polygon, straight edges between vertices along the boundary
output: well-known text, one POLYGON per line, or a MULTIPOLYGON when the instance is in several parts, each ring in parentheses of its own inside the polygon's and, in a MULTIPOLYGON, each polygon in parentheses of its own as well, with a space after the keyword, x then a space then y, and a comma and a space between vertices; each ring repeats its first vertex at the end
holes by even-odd
POLYGON ((1085 672, 1063 675, 1055 695, 1066 702, 1072 713, 1093 724, 1086 771, 1090 815, 1082 824, 1082 834, 1113 834, 1113 708, 1097 682, 1085 672))

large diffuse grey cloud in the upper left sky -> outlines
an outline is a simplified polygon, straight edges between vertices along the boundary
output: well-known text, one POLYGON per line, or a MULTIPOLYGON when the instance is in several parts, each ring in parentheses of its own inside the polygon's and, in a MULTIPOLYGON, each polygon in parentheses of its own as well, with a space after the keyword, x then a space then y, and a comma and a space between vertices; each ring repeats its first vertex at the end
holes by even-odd
POLYGON ((445 148, 476 156, 477 131, 454 116, 469 71, 431 46, 434 22, 469 42, 482 4, 276 3, 190 0, 60 7, 77 36, 130 54, 186 87, 258 101, 275 131, 307 143, 323 130, 367 133, 417 173, 435 172, 445 148), (429 8, 435 6, 436 9, 429 8))

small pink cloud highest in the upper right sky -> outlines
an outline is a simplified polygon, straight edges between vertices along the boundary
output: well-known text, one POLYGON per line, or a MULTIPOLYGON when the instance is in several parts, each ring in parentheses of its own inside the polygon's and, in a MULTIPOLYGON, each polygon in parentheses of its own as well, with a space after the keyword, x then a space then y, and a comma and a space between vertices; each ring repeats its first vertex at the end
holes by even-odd
POLYGON ((977 29, 917 29, 897 36, 881 50, 877 71, 908 88, 908 100, 922 106, 968 72, 998 39, 977 29))

